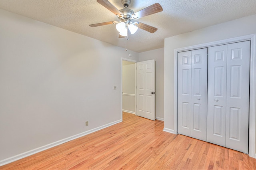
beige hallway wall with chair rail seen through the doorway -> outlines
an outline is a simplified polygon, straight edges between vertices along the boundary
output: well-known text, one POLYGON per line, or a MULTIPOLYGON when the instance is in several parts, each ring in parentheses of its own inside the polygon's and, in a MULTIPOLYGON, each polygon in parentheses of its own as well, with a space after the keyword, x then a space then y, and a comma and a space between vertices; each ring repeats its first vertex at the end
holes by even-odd
POLYGON ((135 113, 135 63, 122 61, 123 111, 135 113))

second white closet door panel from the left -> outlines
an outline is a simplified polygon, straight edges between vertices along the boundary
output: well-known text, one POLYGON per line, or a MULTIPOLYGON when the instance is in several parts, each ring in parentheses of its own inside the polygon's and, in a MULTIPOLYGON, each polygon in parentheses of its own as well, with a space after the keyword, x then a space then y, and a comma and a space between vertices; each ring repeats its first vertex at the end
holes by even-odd
POLYGON ((206 141, 207 132, 207 52, 191 55, 191 137, 206 141))

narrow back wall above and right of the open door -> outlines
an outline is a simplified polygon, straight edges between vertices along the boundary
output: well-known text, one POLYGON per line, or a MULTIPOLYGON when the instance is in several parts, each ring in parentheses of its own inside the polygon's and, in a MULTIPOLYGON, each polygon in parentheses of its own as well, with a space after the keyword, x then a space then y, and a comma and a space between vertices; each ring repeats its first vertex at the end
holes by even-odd
POLYGON ((156 117, 164 120, 164 48, 139 53, 139 61, 156 61, 156 117))

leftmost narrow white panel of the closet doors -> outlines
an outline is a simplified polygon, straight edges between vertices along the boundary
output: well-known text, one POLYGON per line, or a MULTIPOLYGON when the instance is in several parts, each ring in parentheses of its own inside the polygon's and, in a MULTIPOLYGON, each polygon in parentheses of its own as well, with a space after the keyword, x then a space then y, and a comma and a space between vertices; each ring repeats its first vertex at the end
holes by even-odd
POLYGON ((191 136, 191 51, 178 53, 178 133, 191 136))

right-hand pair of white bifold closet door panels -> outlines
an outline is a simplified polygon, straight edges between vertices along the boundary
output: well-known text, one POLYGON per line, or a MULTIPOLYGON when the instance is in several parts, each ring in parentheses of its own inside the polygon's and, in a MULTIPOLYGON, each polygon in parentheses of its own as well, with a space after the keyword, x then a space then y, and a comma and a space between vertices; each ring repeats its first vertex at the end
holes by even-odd
POLYGON ((250 41, 208 50, 207 141, 248 153, 250 41))

